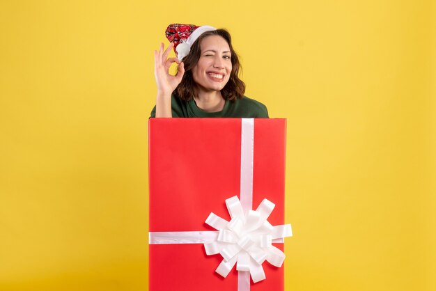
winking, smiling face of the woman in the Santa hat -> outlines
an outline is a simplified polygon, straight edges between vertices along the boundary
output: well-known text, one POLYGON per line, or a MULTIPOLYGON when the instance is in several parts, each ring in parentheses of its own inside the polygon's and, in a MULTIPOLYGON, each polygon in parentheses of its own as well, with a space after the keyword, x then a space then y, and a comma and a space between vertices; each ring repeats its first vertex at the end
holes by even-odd
POLYGON ((231 51, 221 36, 208 36, 201 41, 201 55, 192 68, 192 77, 203 91, 221 91, 232 71, 231 51))

